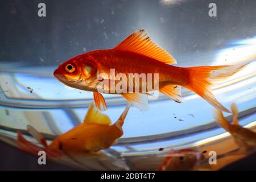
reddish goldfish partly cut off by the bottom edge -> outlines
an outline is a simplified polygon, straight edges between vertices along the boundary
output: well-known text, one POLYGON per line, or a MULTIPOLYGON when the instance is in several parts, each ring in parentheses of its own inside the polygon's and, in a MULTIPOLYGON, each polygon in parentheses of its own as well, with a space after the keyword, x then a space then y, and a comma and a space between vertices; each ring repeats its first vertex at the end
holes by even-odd
POLYGON ((164 158, 158 171, 195 170, 200 160, 203 159, 203 154, 192 149, 170 151, 166 155, 166 158, 164 158))

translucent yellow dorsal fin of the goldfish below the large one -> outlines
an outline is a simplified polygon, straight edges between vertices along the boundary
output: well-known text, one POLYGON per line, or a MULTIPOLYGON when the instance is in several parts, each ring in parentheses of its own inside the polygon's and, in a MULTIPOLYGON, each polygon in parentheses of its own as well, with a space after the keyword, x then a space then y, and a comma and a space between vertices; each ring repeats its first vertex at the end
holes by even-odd
POLYGON ((93 124, 100 124, 100 125, 110 125, 111 120, 109 119, 108 115, 101 113, 98 111, 92 102, 90 107, 85 115, 84 123, 93 123, 93 124))

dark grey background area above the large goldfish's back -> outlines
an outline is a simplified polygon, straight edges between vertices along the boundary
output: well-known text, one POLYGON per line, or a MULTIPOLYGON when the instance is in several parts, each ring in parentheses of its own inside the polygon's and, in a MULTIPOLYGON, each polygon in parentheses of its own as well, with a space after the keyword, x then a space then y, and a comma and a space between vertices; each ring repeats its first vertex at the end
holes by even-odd
POLYGON ((176 59, 184 53, 225 46, 255 36, 254 0, 0 1, 0 61, 57 65, 92 49, 112 48, 131 32, 145 28, 176 59), (38 3, 46 3, 46 17, 38 3), (217 17, 208 15, 210 2, 217 17))

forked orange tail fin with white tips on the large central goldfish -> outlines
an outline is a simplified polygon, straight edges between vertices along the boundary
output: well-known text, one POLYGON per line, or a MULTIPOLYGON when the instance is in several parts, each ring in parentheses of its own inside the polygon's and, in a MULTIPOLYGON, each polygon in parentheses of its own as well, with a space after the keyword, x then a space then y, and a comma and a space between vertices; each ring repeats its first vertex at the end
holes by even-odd
POLYGON ((189 84, 185 87, 199 94, 199 96, 203 97, 209 104, 216 107, 216 109, 230 113, 226 107, 216 100, 210 87, 234 75, 245 66, 246 64, 187 68, 190 79, 189 84))

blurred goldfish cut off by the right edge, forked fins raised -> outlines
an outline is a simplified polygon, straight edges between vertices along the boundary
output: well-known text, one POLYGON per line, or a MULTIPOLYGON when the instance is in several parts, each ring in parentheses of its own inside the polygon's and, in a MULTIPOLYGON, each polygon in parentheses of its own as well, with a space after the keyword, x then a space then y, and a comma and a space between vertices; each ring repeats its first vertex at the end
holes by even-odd
POLYGON ((239 146, 240 152, 250 153, 256 150, 256 133, 239 125, 236 104, 231 105, 233 122, 230 123, 220 110, 214 109, 214 118, 218 125, 230 133, 239 146))

